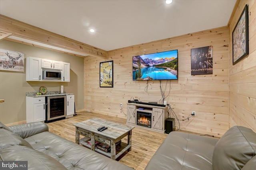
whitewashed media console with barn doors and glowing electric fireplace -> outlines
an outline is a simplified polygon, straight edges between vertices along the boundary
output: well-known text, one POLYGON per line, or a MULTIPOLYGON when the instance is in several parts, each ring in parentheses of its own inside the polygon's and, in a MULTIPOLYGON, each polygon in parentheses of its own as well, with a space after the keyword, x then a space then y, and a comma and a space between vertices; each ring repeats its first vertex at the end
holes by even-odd
MULTIPOLYGON (((168 118, 168 107, 151 106, 146 104, 127 103, 127 125, 132 125, 142 129, 164 133, 165 131, 165 119, 168 118), (137 113, 138 112, 138 113, 137 113), (150 122, 150 126, 138 125, 140 115, 147 115, 147 121, 150 122)), ((144 116, 143 116, 144 117, 144 116)))

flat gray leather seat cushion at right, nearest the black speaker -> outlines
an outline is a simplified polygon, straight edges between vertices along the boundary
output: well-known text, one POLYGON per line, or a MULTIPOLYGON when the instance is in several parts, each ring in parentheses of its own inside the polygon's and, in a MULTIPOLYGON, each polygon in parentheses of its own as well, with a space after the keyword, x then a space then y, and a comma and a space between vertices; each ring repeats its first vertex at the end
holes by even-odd
POLYGON ((212 170, 212 154, 218 139, 171 132, 145 170, 212 170))

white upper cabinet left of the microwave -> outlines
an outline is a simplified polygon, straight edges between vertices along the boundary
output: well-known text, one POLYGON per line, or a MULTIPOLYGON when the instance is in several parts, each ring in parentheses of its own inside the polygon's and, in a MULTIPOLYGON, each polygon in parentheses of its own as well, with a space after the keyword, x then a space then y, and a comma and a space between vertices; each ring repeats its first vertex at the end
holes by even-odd
POLYGON ((42 81, 41 59, 26 58, 26 81, 42 81))

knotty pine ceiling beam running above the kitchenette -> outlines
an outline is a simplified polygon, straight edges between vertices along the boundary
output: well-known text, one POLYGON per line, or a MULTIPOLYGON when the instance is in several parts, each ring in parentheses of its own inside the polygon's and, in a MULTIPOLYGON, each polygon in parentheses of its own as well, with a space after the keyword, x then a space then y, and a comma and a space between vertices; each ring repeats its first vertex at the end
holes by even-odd
POLYGON ((56 33, 52 33, 50 31, 46 31, 44 29, 29 25, 18 20, 14 20, 3 15, 0 15, 0 30, 1 32, 3 31, 12 33, 12 35, 16 37, 21 37, 39 43, 76 51, 86 55, 107 58, 107 51, 105 50, 64 37, 62 35, 58 35, 56 33))

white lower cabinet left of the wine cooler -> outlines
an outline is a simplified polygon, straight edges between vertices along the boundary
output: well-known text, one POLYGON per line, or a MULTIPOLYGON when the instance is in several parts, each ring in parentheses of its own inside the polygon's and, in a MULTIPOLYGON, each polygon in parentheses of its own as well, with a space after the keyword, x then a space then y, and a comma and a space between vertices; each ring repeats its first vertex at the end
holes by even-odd
POLYGON ((26 122, 45 121, 45 97, 26 97, 26 122))

